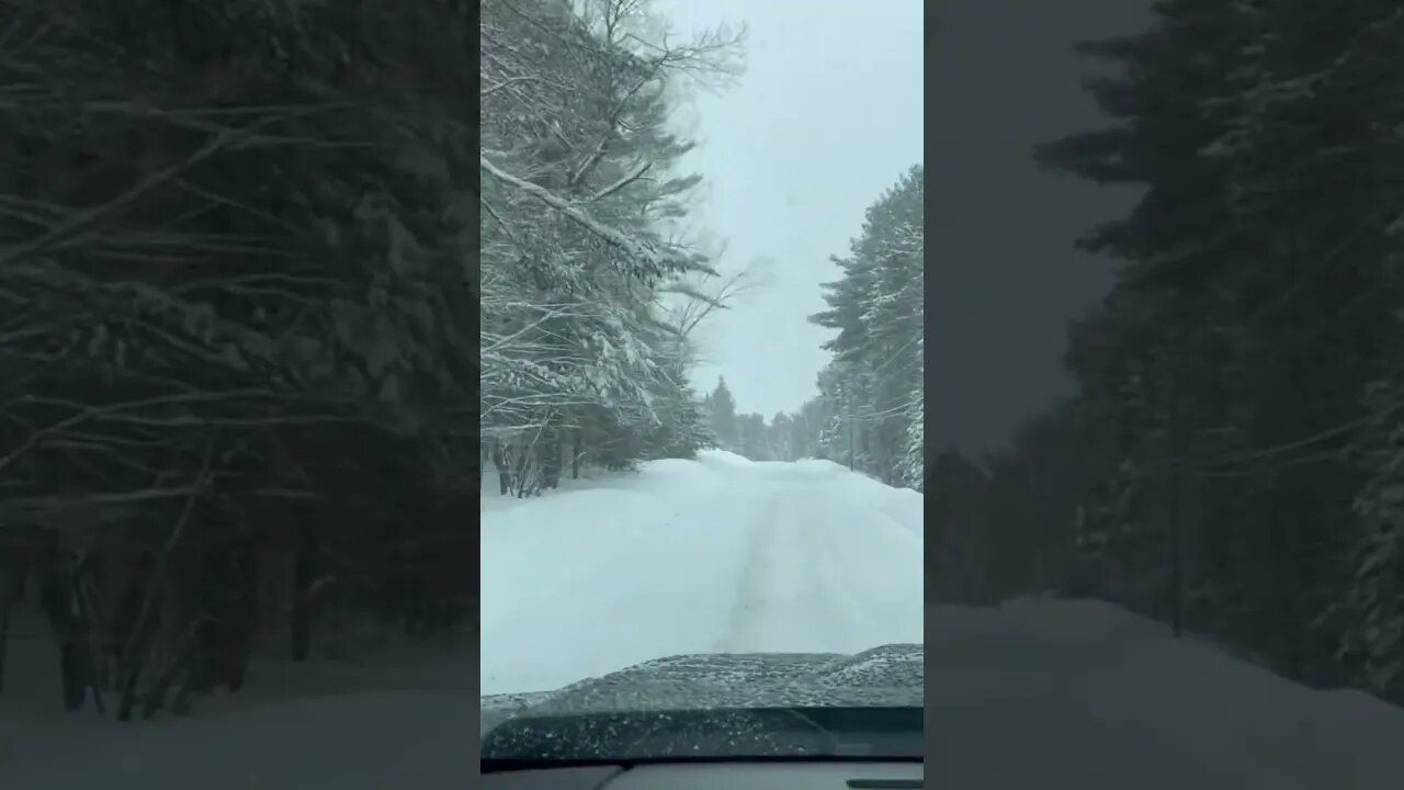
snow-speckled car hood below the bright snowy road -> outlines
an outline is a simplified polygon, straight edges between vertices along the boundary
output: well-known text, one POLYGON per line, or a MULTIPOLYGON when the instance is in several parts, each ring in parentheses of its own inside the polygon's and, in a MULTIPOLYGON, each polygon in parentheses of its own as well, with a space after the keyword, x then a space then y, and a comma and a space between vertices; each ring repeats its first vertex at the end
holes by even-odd
POLYGON ((482 697, 483 732, 519 715, 804 707, 921 707, 922 647, 859 654, 696 654, 646 661, 555 692, 482 697))

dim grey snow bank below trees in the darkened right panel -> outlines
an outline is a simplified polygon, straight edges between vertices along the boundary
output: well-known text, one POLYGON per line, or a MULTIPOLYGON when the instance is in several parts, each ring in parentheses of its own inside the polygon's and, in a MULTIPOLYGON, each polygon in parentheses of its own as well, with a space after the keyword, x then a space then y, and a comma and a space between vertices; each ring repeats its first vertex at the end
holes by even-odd
POLYGON ((934 787, 1404 787, 1404 710, 1307 689, 1106 603, 938 606, 927 628, 934 787))

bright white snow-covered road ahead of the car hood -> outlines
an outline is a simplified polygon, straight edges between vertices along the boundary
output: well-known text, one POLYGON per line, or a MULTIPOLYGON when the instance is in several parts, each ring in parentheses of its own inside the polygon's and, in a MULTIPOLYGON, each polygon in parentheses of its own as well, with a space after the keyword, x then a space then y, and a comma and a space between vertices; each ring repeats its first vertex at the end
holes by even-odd
POLYGON ((538 500, 484 499, 482 690, 684 652, 922 637, 922 498, 828 461, 729 453, 538 500))

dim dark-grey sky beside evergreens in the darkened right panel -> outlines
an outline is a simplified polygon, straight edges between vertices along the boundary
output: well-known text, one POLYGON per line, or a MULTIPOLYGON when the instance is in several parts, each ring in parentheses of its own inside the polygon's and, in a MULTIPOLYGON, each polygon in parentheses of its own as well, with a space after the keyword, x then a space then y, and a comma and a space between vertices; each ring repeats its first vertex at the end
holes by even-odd
POLYGON ((1134 32, 1150 0, 945 0, 929 11, 932 195, 928 448, 993 450, 1068 391, 1064 325, 1109 264, 1073 247, 1125 212, 1109 190, 1035 164, 1035 143, 1101 122, 1073 44, 1134 32))

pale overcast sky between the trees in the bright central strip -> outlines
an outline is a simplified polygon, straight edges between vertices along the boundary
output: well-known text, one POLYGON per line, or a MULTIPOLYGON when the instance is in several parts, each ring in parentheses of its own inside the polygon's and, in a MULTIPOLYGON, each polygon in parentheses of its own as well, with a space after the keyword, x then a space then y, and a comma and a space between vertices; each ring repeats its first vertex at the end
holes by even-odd
POLYGON ((922 160, 922 0, 656 0, 675 35, 750 28, 739 87, 696 98, 701 145, 685 167, 709 186, 702 225, 727 242, 723 268, 772 259, 765 288, 717 313, 702 337, 701 389, 724 375, 739 412, 767 419, 814 395, 830 332, 830 254, 863 209, 922 160))

